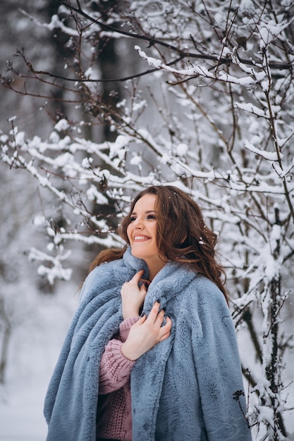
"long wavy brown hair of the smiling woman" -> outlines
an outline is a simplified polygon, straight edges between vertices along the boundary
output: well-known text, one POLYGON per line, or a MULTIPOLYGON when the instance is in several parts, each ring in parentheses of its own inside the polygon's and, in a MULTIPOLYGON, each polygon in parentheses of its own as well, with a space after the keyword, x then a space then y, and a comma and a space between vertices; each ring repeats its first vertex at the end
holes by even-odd
MULTIPOLYGON (((127 228, 137 201, 145 194, 156 194, 157 245, 164 260, 188 263, 197 273, 204 274, 219 287, 228 302, 222 278, 225 274, 216 261, 214 248, 217 235, 204 224, 202 210, 182 190, 171 185, 148 187, 135 197, 130 211, 118 228, 118 234, 129 244, 127 228)), ((90 269, 105 261, 120 259, 123 249, 108 249, 98 254, 90 269)))

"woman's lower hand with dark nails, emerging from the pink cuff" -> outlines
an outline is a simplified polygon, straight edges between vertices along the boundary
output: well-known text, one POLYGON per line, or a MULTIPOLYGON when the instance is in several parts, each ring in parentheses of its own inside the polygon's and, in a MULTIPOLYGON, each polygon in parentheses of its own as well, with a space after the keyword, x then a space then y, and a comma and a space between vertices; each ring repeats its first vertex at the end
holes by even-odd
POLYGON ((159 302, 155 302, 149 316, 142 316, 130 328, 127 340, 121 346, 121 352, 126 359, 137 360, 142 354, 152 349, 157 343, 166 340, 171 334, 171 318, 166 317, 164 311, 159 311, 159 302))

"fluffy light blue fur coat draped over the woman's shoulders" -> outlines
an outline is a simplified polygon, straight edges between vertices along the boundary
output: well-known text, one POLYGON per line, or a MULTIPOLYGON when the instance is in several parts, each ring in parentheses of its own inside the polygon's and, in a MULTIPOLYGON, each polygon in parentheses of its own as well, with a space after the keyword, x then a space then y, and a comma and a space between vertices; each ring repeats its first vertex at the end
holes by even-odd
MULTIPOLYGON (((47 441, 95 441, 99 360, 123 320, 121 285, 140 269, 147 278, 145 262, 129 247, 123 259, 98 266, 85 280, 45 399, 47 441)), ((157 299, 173 325, 131 372, 133 441, 250 441, 223 294, 187 265, 169 262, 149 285, 145 313, 157 299)))

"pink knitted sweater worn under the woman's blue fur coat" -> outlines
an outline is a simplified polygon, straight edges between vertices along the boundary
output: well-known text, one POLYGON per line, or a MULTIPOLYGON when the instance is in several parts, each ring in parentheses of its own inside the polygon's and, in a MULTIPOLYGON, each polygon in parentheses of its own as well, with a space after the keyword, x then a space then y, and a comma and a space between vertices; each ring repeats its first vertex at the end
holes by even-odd
POLYGON ((139 317, 130 317, 119 326, 119 334, 107 344, 100 363, 97 437, 132 441, 130 371, 135 361, 121 353, 130 327, 139 317))

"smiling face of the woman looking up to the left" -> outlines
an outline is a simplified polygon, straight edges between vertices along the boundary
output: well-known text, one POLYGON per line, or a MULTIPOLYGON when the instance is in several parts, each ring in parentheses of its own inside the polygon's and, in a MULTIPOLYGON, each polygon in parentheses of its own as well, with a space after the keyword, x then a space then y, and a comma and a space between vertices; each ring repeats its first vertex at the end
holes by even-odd
POLYGON ((127 228, 128 240, 133 256, 143 259, 149 269, 163 268, 157 246, 157 212, 155 211, 155 194, 145 194, 135 204, 127 228))

